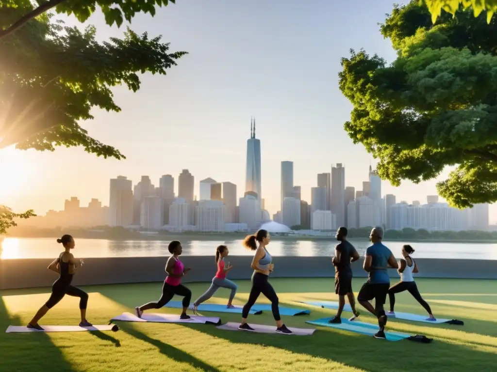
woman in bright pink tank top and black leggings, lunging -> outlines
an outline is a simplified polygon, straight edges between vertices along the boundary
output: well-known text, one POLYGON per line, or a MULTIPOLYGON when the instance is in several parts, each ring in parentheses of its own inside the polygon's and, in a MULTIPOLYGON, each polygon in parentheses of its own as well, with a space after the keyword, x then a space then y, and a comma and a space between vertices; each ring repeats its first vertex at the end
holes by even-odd
POLYGON ((181 312, 179 318, 190 318, 188 315, 186 315, 186 310, 190 306, 191 291, 181 284, 181 278, 188 271, 190 271, 190 268, 188 267, 185 269, 183 266, 183 262, 179 260, 179 256, 183 251, 181 243, 179 243, 177 240, 173 240, 171 243, 169 243, 169 247, 167 249, 172 255, 167 259, 166 263, 167 276, 162 287, 162 296, 158 302, 149 302, 148 304, 135 308, 136 316, 138 316, 139 318, 142 317, 143 311, 145 310, 161 309, 169 301, 172 300, 172 297, 174 295, 183 296, 183 311, 181 312))

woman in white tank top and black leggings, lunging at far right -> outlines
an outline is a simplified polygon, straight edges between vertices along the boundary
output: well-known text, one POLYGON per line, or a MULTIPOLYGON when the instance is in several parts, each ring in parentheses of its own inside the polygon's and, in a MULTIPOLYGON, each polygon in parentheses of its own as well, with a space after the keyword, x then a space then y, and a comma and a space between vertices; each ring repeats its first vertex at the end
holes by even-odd
POLYGON ((402 247, 401 264, 397 272, 401 276, 401 281, 394 286, 390 287, 388 290, 388 297, 390 298, 390 316, 395 316, 395 294, 409 291, 409 293, 414 297, 414 299, 426 310, 429 314, 429 319, 435 319, 433 313, 431 312, 430 306, 423 300, 419 291, 417 290, 416 282, 414 282, 413 274, 417 273, 417 265, 410 254, 414 253, 413 247, 405 245, 402 247))

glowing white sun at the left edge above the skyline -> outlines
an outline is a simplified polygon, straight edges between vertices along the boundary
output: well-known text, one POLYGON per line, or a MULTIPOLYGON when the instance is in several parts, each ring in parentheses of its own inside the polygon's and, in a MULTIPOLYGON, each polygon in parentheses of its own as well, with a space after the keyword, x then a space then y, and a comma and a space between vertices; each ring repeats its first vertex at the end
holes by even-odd
POLYGON ((38 171, 29 155, 14 146, 0 149, 0 204, 8 205, 9 198, 32 190, 33 176, 38 171))

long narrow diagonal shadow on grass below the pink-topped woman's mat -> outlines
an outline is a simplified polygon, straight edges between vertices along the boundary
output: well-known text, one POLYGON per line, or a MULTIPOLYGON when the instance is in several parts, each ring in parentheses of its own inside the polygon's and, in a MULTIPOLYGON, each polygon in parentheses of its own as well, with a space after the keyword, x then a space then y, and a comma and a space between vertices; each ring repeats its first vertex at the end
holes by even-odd
POLYGON ((161 354, 166 355, 168 358, 174 359, 176 362, 187 363, 193 366, 194 368, 201 369, 202 371, 219 372, 217 368, 208 365, 207 363, 204 363, 201 360, 198 360, 194 356, 185 353, 184 351, 177 349, 174 346, 168 345, 160 340, 157 340, 155 338, 146 335, 145 333, 141 332, 136 327, 134 327, 133 324, 120 322, 119 326, 123 332, 128 333, 130 336, 133 336, 136 339, 154 345, 159 349, 161 354))

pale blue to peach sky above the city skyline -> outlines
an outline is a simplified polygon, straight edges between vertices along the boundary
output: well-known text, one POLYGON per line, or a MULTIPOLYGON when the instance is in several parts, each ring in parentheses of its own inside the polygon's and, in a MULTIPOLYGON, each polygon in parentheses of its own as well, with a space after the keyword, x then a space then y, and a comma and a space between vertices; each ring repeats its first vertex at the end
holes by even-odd
MULTIPOLYGON (((345 167, 345 184, 362 188, 375 160, 343 129, 352 109, 338 89, 340 58, 364 48, 387 61, 395 59, 378 23, 392 10, 392 0, 177 0, 155 17, 136 16, 130 27, 163 35, 171 51, 189 54, 166 76, 141 76, 137 93, 113 89, 120 113, 93 110, 82 122, 89 134, 117 147, 126 160, 97 158, 83 148, 54 152, 0 150, 0 202, 38 214, 60 210, 77 196, 81 205, 98 198, 109 202, 109 179, 126 176, 136 184, 142 175, 175 180, 182 169, 199 181, 211 177, 245 191, 247 139, 255 117, 261 140, 262 197, 266 209, 280 208, 280 163, 294 162, 294 185, 310 202, 317 174, 331 165, 345 167)), ((69 25, 84 25, 62 17, 69 25)), ((99 40, 119 37, 120 28, 105 24, 99 12, 86 24, 97 27, 99 40)), ((448 174, 444 172, 438 180, 448 174)), ((397 200, 426 202, 437 180, 382 183, 382 193, 397 200)), ((490 221, 497 220, 491 206, 490 221)))

